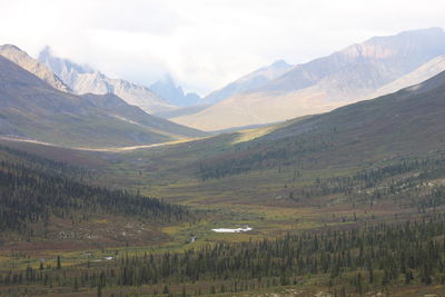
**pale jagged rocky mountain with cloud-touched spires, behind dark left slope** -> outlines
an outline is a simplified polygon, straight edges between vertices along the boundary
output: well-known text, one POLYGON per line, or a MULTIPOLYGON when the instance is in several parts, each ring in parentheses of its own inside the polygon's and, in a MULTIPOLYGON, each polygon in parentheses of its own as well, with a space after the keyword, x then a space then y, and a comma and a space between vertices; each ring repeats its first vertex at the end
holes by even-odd
POLYGON ((89 67, 82 67, 70 60, 53 57, 48 47, 40 52, 38 59, 47 65, 76 93, 103 95, 112 92, 127 103, 137 106, 148 113, 176 108, 147 87, 123 79, 112 79, 89 67))

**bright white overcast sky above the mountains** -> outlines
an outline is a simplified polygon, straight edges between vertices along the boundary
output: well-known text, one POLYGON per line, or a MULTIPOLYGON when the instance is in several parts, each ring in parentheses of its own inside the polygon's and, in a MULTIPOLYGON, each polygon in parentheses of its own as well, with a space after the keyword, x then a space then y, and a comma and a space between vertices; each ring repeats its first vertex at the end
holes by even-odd
POLYGON ((46 46, 110 77, 220 88, 278 59, 306 62, 373 36, 445 28, 444 0, 0 0, 0 43, 46 46))

